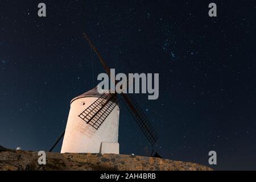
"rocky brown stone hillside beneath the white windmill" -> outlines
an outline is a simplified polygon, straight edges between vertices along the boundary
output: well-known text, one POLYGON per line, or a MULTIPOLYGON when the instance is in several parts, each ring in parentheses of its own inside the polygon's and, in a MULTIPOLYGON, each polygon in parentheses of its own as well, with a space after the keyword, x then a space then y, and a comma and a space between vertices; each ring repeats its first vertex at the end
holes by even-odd
POLYGON ((200 164, 117 154, 59 154, 47 152, 46 165, 38 164, 38 152, 10 150, 0 146, 0 170, 212 170, 200 164))

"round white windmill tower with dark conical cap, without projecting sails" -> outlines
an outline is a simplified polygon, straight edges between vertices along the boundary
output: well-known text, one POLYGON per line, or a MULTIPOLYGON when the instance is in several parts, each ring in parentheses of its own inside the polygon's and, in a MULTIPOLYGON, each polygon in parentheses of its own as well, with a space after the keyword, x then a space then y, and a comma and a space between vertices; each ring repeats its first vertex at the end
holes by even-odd
POLYGON ((119 106, 111 97, 94 88, 73 98, 61 153, 119 154, 119 106))

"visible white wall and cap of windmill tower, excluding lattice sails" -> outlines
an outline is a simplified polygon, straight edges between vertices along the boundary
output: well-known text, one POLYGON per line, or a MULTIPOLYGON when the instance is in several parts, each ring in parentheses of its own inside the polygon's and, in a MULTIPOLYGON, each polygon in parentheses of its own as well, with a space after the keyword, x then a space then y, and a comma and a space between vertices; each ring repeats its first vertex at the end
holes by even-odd
MULTIPOLYGON (((108 92, 108 90, 107 90, 108 92)), ((97 87, 73 98, 68 115, 61 153, 107 153, 119 154, 118 127, 119 106, 116 105, 104 122, 95 129, 79 115, 102 94, 97 87)))

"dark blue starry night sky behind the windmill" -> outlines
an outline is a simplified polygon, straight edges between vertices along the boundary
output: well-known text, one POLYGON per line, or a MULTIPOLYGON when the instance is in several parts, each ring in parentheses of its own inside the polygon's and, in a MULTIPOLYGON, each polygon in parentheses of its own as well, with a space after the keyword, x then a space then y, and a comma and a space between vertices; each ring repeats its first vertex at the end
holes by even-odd
MULTIPOLYGON (((255 10, 253 0, 0 1, 0 144, 51 148, 72 98, 104 72, 86 32, 116 72, 159 73, 158 100, 133 95, 160 155, 209 166, 214 150, 214 169, 256 169, 255 10)), ((122 154, 151 152, 123 105, 119 144, 122 154)))

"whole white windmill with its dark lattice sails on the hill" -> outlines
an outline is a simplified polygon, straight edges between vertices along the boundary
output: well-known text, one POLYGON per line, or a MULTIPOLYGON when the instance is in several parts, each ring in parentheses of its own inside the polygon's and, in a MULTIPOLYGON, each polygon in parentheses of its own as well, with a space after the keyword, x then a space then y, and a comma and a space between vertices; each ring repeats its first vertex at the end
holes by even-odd
MULTIPOLYGON (((104 59, 102 59, 100 52, 98 52, 88 36, 84 34, 84 38, 100 59, 106 73, 110 76, 110 69, 104 59)), ((100 94, 97 92, 97 88, 94 88, 71 101, 66 129, 50 151, 64 137, 61 153, 100 152, 119 154, 118 104, 121 101, 125 103, 130 114, 142 130, 142 133, 153 147, 158 139, 158 134, 134 97, 126 93, 110 93, 109 90, 104 90, 100 94)))

